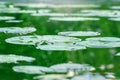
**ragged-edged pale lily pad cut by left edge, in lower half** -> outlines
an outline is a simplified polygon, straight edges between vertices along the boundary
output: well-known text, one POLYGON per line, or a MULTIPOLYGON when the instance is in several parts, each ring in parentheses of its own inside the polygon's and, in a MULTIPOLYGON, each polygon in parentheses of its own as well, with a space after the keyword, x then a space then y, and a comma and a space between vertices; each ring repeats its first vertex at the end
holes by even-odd
POLYGON ((0 55, 0 63, 18 63, 18 61, 32 62, 35 58, 19 55, 0 55))

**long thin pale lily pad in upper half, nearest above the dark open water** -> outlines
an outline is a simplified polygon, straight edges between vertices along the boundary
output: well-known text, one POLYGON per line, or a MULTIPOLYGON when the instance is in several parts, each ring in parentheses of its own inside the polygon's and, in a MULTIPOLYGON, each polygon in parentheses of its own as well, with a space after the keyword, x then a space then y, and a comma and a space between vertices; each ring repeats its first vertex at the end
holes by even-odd
POLYGON ((52 21, 98 21, 99 18, 87 18, 87 17, 50 17, 52 21))

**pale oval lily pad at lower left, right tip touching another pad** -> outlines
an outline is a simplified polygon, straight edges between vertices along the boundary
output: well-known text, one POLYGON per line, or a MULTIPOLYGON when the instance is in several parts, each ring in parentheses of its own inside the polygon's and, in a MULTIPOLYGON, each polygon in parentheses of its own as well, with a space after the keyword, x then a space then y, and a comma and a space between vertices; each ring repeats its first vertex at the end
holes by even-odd
POLYGON ((22 72, 26 74, 44 74, 45 72, 53 72, 52 69, 42 66, 14 66, 15 72, 22 72))

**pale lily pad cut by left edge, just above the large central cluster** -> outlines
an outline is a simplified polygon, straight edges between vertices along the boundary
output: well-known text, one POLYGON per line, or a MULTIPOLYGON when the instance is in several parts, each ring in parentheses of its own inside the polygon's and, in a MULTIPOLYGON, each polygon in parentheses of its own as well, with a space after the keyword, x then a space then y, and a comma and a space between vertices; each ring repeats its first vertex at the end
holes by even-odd
POLYGON ((0 32, 11 33, 11 34, 28 34, 35 32, 36 29, 34 27, 3 27, 0 28, 0 32))

